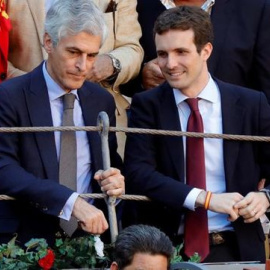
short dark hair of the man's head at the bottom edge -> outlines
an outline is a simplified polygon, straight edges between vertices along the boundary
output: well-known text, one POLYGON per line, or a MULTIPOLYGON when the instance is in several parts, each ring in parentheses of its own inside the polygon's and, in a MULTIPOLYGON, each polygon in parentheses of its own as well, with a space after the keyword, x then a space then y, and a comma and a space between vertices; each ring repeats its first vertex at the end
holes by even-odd
POLYGON ((163 255, 169 267, 173 245, 169 237, 158 228, 132 225, 122 230, 115 242, 114 260, 119 269, 130 265, 136 253, 163 255))

